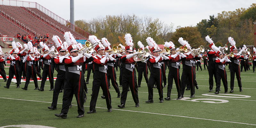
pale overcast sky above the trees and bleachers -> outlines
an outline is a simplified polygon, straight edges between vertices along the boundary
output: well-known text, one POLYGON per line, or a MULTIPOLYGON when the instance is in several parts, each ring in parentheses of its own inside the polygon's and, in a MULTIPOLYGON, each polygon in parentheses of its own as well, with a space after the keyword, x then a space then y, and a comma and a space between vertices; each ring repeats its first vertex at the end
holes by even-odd
MULTIPOLYGON (((29 0, 28 0, 29 1, 29 0)), ((69 0, 31 0, 37 2, 65 20, 70 19, 69 0)), ((75 20, 91 20, 99 16, 135 14, 159 18, 166 24, 196 26, 209 15, 222 11, 249 8, 255 0, 74 0, 75 20)))

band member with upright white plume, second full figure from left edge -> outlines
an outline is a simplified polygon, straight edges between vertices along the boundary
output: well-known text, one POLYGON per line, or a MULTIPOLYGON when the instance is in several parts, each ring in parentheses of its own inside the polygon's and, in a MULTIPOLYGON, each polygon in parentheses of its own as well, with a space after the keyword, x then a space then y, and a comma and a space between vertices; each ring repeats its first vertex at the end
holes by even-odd
POLYGON ((33 45, 31 42, 28 42, 28 55, 26 55, 25 59, 23 60, 23 63, 25 63, 27 61, 28 63, 28 67, 27 67, 27 71, 26 71, 26 83, 25 83, 25 86, 24 88, 21 88, 23 90, 28 90, 28 84, 29 84, 29 81, 30 81, 30 77, 32 76, 33 78, 33 81, 34 81, 34 84, 35 84, 35 89, 34 90, 37 90, 39 89, 38 88, 38 83, 37 83, 37 77, 36 77, 36 61, 37 61, 37 58, 36 56, 34 55, 34 52, 33 51, 33 45))

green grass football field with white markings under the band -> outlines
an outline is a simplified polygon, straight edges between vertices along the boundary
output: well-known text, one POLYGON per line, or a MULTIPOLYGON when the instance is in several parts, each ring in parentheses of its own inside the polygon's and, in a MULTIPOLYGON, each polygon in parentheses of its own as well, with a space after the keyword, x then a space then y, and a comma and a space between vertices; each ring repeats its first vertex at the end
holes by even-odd
MULTIPOLYGON (((203 65, 202 65, 203 66, 203 65)), ((159 103, 158 91, 154 89, 154 103, 147 104, 148 87, 145 79, 142 79, 141 87, 138 90, 140 107, 135 108, 132 100, 131 92, 128 92, 125 108, 120 109, 120 98, 116 98, 117 93, 111 85, 110 94, 112 97, 112 112, 107 112, 106 100, 100 98, 102 91, 96 104, 96 113, 86 114, 89 111, 92 93, 92 74, 89 84, 87 85, 88 94, 87 101, 84 103, 85 115, 83 118, 76 118, 77 106, 75 96, 73 98, 73 107, 68 111, 68 118, 62 119, 54 116, 61 111, 62 95, 60 93, 58 99, 57 110, 50 110, 52 93, 49 81, 46 82, 44 92, 33 90, 34 83, 28 85, 28 91, 22 90, 24 83, 20 88, 15 88, 15 83, 11 83, 10 89, 6 89, 6 83, 1 79, 0 83, 0 128, 7 125, 43 125, 56 128, 82 128, 82 127, 173 127, 173 128, 251 128, 256 127, 256 76, 251 70, 241 72, 243 92, 239 92, 239 88, 235 79, 234 93, 224 94, 224 87, 221 83, 220 94, 215 97, 215 87, 212 92, 209 91, 208 72, 207 70, 196 71, 196 81, 199 89, 195 91, 195 98, 189 99, 190 91, 185 91, 182 100, 164 100, 159 103), (210 95, 205 95, 209 94, 210 95), (226 97, 225 97, 226 96, 226 97), (187 98, 185 98, 187 97, 187 98), (214 101, 216 100, 216 101, 214 101), (211 101, 211 102, 209 102, 211 101)), ((9 68, 5 68, 8 75, 9 68)), ((230 72, 228 72, 228 87, 230 87, 230 72)), ((166 70, 168 76, 169 70, 166 70)), ((182 69, 180 70, 180 75, 182 69)), ((119 80, 119 71, 117 80, 119 80)), ((56 77, 57 72, 54 72, 56 77)), ((148 74, 148 77, 150 73, 148 74)), ((119 84, 119 81, 117 81, 119 84)), ((41 82, 38 82, 39 86, 41 82)), ((214 84, 215 85, 215 84, 214 84)), ((119 87, 122 90, 122 87, 119 87)), ((166 97, 167 87, 164 88, 164 98, 166 97)), ((173 83, 171 99, 177 98, 177 90, 173 83)))

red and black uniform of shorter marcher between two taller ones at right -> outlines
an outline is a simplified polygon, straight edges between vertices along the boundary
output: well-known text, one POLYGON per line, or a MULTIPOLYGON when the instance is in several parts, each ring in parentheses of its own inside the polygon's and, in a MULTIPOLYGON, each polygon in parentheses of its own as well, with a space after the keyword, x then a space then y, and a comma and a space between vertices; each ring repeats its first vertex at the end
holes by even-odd
POLYGON ((230 64, 227 60, 223 62, 220 61, 220 58, 214 60, 217 64, 217 85, 216 85, 216 92, 220 91, 220 80, 222 79, 222 83, 225 89, 225 92, 228 92, 228 80, 227 80, 227 72, 225 69, 226 64, 230 64))

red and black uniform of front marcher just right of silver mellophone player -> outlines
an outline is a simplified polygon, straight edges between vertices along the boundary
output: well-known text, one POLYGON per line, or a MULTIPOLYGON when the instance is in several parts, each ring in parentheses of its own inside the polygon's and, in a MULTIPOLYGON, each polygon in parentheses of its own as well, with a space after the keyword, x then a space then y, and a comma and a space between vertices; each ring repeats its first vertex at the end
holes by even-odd
MULTIPOLYGON (((162 66, 162 61, 164 60, 163 57, 161 57, 157 62, 156 62, 156 56, 152 56, 148 59, 149 61, 149 66, 151 67, 151 72, 150 76, 148 79, 148 100, 153 100, 153 87, 154 84, 156 83, 158 93, 159 93, 159 100, 164 100, 163 99, 163 72, 161 69, 162 66)), ((169 61, 169 60, 166 60, 169 61)))

